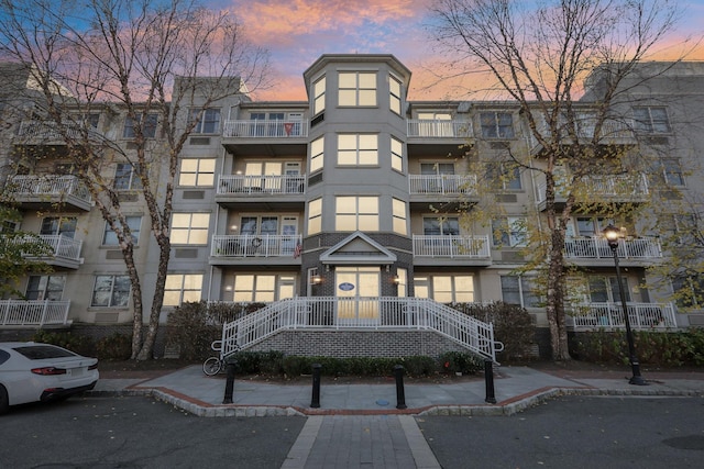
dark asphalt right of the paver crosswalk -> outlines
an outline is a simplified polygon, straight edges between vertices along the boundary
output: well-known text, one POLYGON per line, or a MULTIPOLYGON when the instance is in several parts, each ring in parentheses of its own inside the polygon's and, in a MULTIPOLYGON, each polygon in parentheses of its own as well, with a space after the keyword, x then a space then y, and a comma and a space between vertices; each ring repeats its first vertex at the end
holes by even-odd
POLYGON ((503 417, 416 418, 454 468, 702 468, 704 399, 565 397, 503 417))

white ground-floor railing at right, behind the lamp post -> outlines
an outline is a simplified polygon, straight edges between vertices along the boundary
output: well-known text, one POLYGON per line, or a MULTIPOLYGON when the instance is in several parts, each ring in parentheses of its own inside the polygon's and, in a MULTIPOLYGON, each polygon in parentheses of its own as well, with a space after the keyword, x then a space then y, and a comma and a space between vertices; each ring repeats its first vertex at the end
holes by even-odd
MULTIPOLYGON (((664 331, 676 327, 672 303, 626 303, 632 330, 664 331)), ((578 330, 622 330, 626 327, 620 303, 585 303, 574 305, 568 325, 578 330)))

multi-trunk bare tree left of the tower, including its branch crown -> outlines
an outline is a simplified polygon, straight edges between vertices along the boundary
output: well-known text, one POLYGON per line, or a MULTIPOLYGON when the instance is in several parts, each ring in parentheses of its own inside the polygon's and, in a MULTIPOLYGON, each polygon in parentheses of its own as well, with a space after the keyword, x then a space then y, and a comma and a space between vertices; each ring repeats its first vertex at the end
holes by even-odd
POLYGON ((265 83, 267 54, 244 40, 235 18, 196 0, 2 0, 0 5, 0 53, 32 66, 46 119, 118 237, 132 288, 132 358, 152 358, 178 157, 205 110, 265 83), (82 122, 96 111, 127 114, 133 129, 129 146, 82 122), (116 161, 129 163, 139 178, 138 196, 158 246, 151 301, 143 298, 123 202, 106 171, 116 161))

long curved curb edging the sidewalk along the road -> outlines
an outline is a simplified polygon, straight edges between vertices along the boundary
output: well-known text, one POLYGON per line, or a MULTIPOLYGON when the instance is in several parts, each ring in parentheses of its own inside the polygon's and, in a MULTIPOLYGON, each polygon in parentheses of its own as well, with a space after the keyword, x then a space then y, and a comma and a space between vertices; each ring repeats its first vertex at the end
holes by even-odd
POLYGON ((88 397, 151 397, 169 403, 199 417, 267 417, 314 415, 442 415, 442 416, 508 416, 539 405, 561 395, 585 397, 649 397, 649 398, 704 398, 704 391, 675 390, 623 390, 594 388, 543 388, 528 394, 512 398, 497 404, 432 405, 419 409, 350 410, 350 409, 301 409, 290 405, 237 405, 208 404, 168 389, 122 389, 113 391, 86 391, 88 397))

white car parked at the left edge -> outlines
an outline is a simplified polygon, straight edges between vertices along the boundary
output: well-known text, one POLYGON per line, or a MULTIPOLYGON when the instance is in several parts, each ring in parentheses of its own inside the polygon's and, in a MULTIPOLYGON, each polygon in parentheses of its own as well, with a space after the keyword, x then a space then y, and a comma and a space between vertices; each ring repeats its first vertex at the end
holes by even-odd
POLYGON ((0 342, 0 415, 10 405, 63 400, 98 382, 98 359, 34 342, 0 342))

